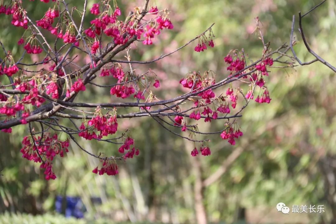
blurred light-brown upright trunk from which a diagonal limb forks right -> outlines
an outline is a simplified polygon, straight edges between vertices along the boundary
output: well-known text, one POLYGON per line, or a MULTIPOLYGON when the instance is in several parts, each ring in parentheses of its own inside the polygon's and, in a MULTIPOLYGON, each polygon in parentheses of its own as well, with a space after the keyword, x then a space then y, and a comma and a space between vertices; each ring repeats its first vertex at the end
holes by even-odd
MULTIPOLYGON (((187 136, 185 136, 187 137, 187 136)), ((201 163, 199 161, 199 156, 191 156, 190 153, 194 149, 194 144, 187 139, 183 139, 185 149, 187 151, 187 156, 190 158, 190 163, 192 166, 192 173, 195 176, 194 184, 194 200, 195 200, 195 215, 198 224, 207 224, 207 213, 205 211, 203 199, 203 179, 202 179, 202 169, 201 163)))

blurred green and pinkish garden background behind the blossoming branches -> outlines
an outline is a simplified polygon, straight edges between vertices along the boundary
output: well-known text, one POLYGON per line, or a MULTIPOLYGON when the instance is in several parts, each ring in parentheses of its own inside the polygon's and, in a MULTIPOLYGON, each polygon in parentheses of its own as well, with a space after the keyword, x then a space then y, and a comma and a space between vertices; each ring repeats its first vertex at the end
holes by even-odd
MULTIPOLYGON (((69 1, 78 5, 82 1, 69 1)), ((123 15, 141 1, 117 1, 123 15)), ((161 98, 181 93, 178 80, 188 71, 213 70, 217 80, 227 76, 224 56, 244 48, 251 60, 262 53, 255 34, 256 16, 265 41, 276 49, 289 42, 292 15, 306 12, 318 0, 173 0, 153 1, 169 8, 174 29, 164 31, 154 46, 139 46, 132 59, 148 60, 169 52, 215 23, 215 48, 197 53, 194 45, 150 65, 158 75, 161 98)), ((89 0, 89 6, 94 1, 89 0)), ((49 4, 28 2, 28 14, 40 19, 49 4), (38 7, 37 7, 38 6, 38 7)), ((92 15, 85 24, 89 25, 92 15)), ((0 40, 14 57, 21 30, 0 15, 0 40)), ((336 65, 336 4, 328 0, 307 15, 303 27, 311 48, 336 65)), ((295 24, 297 56, 312 59, 295 24)), ((51 38, 51 37, 50 37, 51 38)), ((3 53, 3 52, 1 52, 3 53)), ((1 57, 3 55, 1 54, 1 57)), ((276 64, 275 64, 276 65, 276 64)), ((4 80, 2 80, 4 81, 4 80)), ((102 80, 104 82, 104 80, 102 80)), ((291 69, 271 69, 270 104, 252 102, 239 119, 244 136, 229 145, 219 136, 210 138, 211 156, 190 156, 194 147, 151 120, 123 120, 130 128, 140 155, 119 163, 117 176, 98 176, 97 161, 71 144, 66 157, 55 161, 56 180, 46 181, 38 165, 21 158, 21 140, 27 126, 0 133, 0 223, 336 223, 336 79, 335 73, 316 62, 291 69), (84 218, 64 218, 69 197, 79 197, 84 218), (57 199, 58 198, 58 199, 57 199), (61 198, 61 199, 59 199, 61 198), (278 213, 276 205, 324 205, 324 213, 278 213), (57 205, 58 203, 58 205, 57 205), (61 203, 61 205, 59 204, 61 203), (56 205, 55 205, 56 204, 56 205), (57 207, 57 208, 56 208, 57 207), (84 211, 84 210, 83 210, 84 211)), ((225 91, 225 90, 222 90, 225 91)), ((108 90, 89 88, 83 101, 111 100, 108 90)), ((203 122, 202 122, 203 123, 203 122)), ((201 125, 221 130, 221 121, 201 125)), ((116 153, 118 146, 79 139, 86 150, 116 153)), ((72 198, 73 199, 73 198, 72 198)), ((74 199, 73 199, 74 200, 74 199)))

